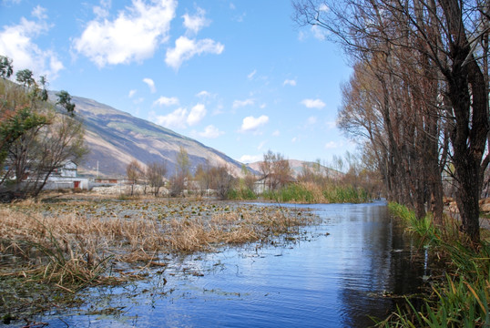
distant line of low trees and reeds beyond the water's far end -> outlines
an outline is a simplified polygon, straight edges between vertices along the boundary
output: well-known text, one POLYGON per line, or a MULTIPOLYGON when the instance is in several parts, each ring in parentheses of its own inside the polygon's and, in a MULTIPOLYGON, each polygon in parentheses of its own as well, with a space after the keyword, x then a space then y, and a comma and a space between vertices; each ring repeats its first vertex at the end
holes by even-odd
POLYGON ((243 165, 240 178, 234 177, 227 165, 212 166, 209 161, 199 164, 192 175, 189 155, 182 147, 176 155, 176 163, 175 173, 168 176, 164 160, 146 165, 136 159, 131 161, 127 166, 131 195, 135 184, 143 186, 143 193, 154 193, 155 196, 161 187, 165 187, 170 197, 192 194, 215 196, 221 200, 262 198, 301 203, 358 203, 383 195, 383 184, 376 172, 368 170, 361 159, 350 153, 345 159, 334 158, 334 163, 329 164, 338 169, 328 168, 318 159, 314 163, 304 163, 301 172, 294 172, 288 159, 269 150, 263 155, 258 171, 252 173, 243 165))

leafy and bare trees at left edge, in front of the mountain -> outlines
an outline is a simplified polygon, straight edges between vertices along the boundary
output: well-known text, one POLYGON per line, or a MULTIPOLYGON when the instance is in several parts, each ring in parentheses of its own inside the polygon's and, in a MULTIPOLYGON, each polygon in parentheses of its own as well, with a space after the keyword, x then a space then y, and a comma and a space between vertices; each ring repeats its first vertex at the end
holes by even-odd
POLYGON ((36 80, 0 56, 0 199, 36 197, 67 160, 87 153, 83 124, 66 91, 48 101, 46 77, 36 80))

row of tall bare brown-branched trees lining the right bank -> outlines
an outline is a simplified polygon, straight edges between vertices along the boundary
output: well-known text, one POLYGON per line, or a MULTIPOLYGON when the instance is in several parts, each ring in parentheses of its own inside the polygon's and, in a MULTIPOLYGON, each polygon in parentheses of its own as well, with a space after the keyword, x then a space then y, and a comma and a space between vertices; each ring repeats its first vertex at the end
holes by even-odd
POLYGON ((462 230, 480 239, 488 151, 486 2, 294 1, 295 20, 326 30, 352 61, 340 127, 362 140, 389 200, 442 223, 454 184, 462 230))

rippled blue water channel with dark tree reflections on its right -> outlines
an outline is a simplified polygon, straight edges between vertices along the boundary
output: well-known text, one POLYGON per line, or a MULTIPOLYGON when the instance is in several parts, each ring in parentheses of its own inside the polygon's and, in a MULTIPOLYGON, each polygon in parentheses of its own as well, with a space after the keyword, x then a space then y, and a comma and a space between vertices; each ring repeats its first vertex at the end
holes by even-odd
POLYGON ((305 207, 323 222, 300 240, 174 260, 148 281, 90 291, 96 313, 87 315, 88 305, 40 320, 50 327, 367 327, 369 316, 393 311, 387 294, 417 292, 424 263, 413 261, 415 248, 383 203, 305 207))

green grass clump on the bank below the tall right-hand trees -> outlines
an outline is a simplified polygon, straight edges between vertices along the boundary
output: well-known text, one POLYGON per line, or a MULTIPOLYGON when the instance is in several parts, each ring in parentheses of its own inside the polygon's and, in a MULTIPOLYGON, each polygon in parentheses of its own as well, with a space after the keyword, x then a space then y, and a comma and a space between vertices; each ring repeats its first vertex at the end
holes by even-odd
POLYGON ((480 247, 468 246, 457 223, 446 218, 444 225, 434 226, 426 217, 417 220, 413 211, 390 204, 393 215, 403 219, 408 230, 421 236, 421 241, 448 263, 445 280, 433 282, 431 293, 421 309, 407 300, 379 326, 383 327, 489 327, 490 326, 490 243, 483 240, 480 247))

